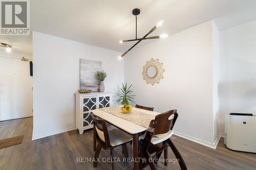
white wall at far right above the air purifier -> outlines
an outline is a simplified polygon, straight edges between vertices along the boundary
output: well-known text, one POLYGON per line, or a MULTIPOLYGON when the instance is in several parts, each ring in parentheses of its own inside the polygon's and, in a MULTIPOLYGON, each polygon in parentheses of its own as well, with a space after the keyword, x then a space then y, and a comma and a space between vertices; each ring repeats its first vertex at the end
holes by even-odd
POLYGON ((220 129, 225 114, 256 112, 256 21, 220 32, 220 129))

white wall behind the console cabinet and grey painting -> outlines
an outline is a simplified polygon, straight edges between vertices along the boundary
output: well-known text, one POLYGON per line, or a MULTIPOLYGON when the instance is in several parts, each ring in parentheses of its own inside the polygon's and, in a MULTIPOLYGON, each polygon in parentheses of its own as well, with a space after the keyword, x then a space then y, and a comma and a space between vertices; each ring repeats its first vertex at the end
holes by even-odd
POLYGON ((74 129, 79 59, 102 62, 105 90, 116 92, 124 81, 119 52, 33 32, 33 139, 74 129))

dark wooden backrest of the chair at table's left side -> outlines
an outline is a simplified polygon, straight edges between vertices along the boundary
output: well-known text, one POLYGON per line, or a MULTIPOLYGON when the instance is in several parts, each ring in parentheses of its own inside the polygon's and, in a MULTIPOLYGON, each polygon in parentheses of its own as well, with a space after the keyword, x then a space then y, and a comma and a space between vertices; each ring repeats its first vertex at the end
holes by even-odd
POLYGON ((90 114, 93 118, 97 141, 102 143, 102 145, 105 145, 105 148, 110 148, 109 132, 108 128, 106 127, 105 120, 96 116, 95 114, 93 114, 93 112, 91 112, 90 114))

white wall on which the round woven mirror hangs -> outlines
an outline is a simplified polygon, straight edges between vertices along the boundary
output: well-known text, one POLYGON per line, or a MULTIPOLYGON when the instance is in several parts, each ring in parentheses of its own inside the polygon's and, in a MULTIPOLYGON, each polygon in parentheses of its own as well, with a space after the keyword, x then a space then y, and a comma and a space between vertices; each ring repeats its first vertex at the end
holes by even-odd
POLYGON ((133 84, 136 103, 156 111, 177 109, 174 130, 183 137, 214 147, 213 22, 133 49, 124 56, 124 80, 133 84), (160 84, 143 80, 142 69, 151 58, 163 62, 160 84))

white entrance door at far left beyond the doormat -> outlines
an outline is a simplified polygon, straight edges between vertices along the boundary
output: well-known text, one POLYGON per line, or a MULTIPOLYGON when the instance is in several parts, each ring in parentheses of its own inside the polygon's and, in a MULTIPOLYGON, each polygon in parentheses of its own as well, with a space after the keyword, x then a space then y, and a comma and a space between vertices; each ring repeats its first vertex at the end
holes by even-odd
POLYGON ((32 116, 31 54, 0 51, 0 121, 32 116), (14 57, 14 58, 10 58, 14 57))

